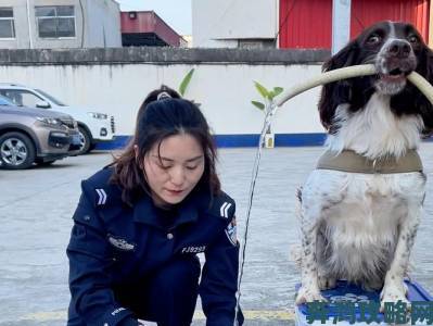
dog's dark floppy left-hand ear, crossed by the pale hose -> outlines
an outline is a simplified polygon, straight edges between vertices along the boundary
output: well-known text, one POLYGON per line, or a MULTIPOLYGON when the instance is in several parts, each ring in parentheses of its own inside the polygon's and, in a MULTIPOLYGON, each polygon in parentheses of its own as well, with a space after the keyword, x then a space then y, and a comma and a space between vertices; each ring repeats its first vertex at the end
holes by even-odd
MULTIPOLYGON (((357 42, 354 40, 340 50, 330 60, 324 62, 322 72, 333 71, 345 66, 354 65, 357 60, 357 42)), ((349 79, 327 84, 321 89, 319 101, 320 121, 323 127, 332 134, 332 120, 336 106, 348 102, 351 98, 349 79)))

